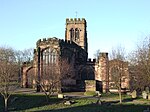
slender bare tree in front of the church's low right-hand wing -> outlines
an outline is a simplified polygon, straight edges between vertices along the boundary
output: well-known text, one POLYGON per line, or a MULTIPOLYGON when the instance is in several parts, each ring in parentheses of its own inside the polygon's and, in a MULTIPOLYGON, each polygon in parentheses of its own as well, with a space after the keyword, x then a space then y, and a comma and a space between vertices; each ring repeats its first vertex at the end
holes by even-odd
POLYGON ((121 46, 112 49, 110 53, 110 59, 116 60, 116 66, 111 70, 111 79, 114 83, 114 87, 118 89, 120 103, 122 103, 122 77, 125 75, 123 69, 123 61, 125 61, 125 49, 121 46))

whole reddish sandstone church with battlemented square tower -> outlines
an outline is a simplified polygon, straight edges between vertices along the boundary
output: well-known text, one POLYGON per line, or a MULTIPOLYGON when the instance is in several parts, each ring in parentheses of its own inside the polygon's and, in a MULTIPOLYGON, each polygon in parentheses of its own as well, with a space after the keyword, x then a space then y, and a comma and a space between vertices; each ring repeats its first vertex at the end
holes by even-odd
POLYGON ((65 40, 53 37, 37 41, 33 61, 23 64, 22 86, 36 89, 37 82, 48 83, 50 77, 43 79, 45 74, 57 71, 55 78, 63 74, 68 69, 66 64, 57 66, 57 70, 54 67, 60 59, 67 60, 72 68, 69 77, 59 79, 62 91, 113 91, 114 77, 118 74, 122 74, 122 89, 129 89, 127 62, 109 60, 105 52, 101 52, 97 60, 88 59, 87 22, 84 18, 66 19, 65 40), (47 69, 48 66, 51 69, 47 69))

